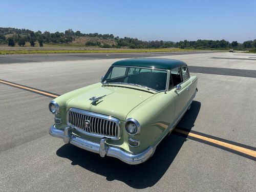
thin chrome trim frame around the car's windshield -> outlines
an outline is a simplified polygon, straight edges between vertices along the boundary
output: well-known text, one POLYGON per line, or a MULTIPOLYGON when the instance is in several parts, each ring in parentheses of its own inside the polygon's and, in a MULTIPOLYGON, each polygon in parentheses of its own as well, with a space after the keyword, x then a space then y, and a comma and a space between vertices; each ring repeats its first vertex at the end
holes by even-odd
POLYGON ((168 86, 169 86, 169 70, 167 69, 159 69, 159 68, 146 68, 146 67, 136 67, 136 66, 110 66, 109 70, 106 71, 104 77, 102 78, 102 80, 100 81, 101 84, 104 86, 104 85, 108 85, 108 84, 126 84, 126 85, 129 85, 129 86, 135 86, 135 87, 140 87, 140 88, 144 88, 144 89, 150 89, 150 90, 153 90, 153 91, 156 91, 156 92, 166 92, 168 90, 168 86), (133 83, 123 83, 123 82, 115 82, 115 83, 103 83, 103 79, 105 78, 106 74, 109 72, 110 68, 111 67, 129 67, 129 68, 141 68, 141 69, 153 69, 153 70, 161 70, 161 71, 166 71, 167 72, 167 77, 166 77, 166 86, 165 86, 165 90, 161 90, 161 91, 157 91, 157 90, 154 90, 152 88, 148 88, 148 87, 145 87, 145 86, 141 86, 141 85, 138 85, 136 86, 135 84, 133 83))

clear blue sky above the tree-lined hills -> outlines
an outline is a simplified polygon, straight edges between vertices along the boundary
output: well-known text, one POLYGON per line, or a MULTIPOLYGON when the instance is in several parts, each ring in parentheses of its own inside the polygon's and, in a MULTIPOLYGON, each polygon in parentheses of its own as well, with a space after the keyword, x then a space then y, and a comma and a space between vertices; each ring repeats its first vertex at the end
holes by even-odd
POLYGON ((1 1, 0 27, 142 40, 256 39, 255 0, 1 1))

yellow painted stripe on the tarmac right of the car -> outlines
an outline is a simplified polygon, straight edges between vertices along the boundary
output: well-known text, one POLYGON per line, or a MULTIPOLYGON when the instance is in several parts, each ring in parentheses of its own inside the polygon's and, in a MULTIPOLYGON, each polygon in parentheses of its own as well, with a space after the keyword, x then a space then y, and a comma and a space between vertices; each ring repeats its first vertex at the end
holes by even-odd
POLYGON ((181 134, 184 134, 184 135, 188 135, 190 137, 195 137, 195 138, 202 139, 202 140, 205 140, 205 141, 208 141, 208 142, 211 142, 211 143, 215 143, 217 145, 221 145, 221 146, 230 148, 231 150, 234 150, 234 151, 237 151, 237 152, 240 152, 240 153, 244 153, 244 154, 250 155, 252 157, 256 157, 256 151, 248 150, 248 148, 244 148, 244 147, 241 147, 241 146, 225 143, 225 142, 222 142, 222 141, 218 141, 216 139, 211 139, 211 138, 208 138, 208 137, 204 137, 204 136, 197 135, 197 134, 194 134, 194 133, 189 133, 189 132, 179 130, 179 129, 175 129, 174 131, 178 132, 178 133, 181 133, 181 134))

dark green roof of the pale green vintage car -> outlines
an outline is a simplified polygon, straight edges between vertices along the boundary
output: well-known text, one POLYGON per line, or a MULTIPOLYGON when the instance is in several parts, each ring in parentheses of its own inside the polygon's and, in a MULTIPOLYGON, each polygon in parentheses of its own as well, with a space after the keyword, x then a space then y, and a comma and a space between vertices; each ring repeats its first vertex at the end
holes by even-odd
POLYGON ((172 70, 180 66, 187 66, 185 62, 175 59, 160 59, 160 58, 135 58, 124 59, 114 62, 112 66, 132 66, 132 67, 145 67, 156 69, 172 70))

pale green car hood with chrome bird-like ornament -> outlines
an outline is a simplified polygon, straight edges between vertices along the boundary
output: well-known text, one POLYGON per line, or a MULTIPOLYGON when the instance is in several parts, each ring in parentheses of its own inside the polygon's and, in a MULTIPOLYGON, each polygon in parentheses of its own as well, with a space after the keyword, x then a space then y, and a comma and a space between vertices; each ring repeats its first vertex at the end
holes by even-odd
POLYGON ((127 114, 154 93, 128 87, 100 86, 72 98, 67 108, 77 108, 125 120, 127 114), (104 96, 105 95, 105 96, 104 96), (92 104, 92 97, 102 97, 92 104))

